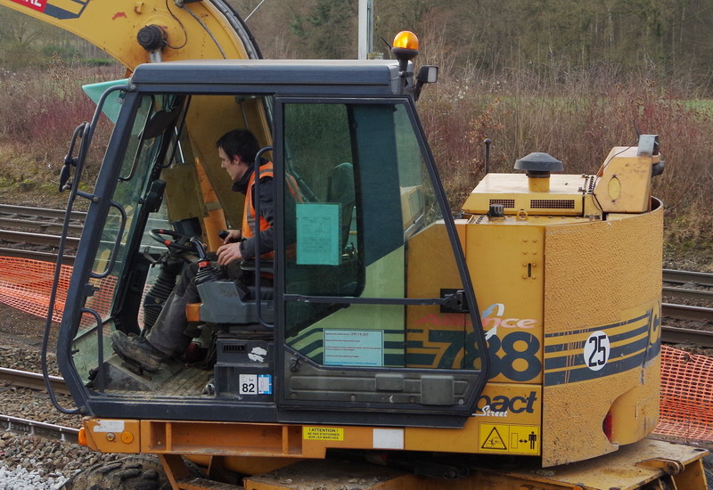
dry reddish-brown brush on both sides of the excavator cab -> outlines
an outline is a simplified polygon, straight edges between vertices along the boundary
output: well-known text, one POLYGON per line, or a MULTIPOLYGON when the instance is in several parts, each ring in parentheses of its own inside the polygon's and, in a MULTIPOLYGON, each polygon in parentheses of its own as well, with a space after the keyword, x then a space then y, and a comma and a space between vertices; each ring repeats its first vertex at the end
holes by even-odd
MULTIPOLYGON (((711 105, 693 92, 658 86, 646 73, 549 69, 543 75, 526 68, 494 75, 454 67, 438 43, 431 49, 421 61, 440 64, 440 81, 425 87, 419 110, 454 210, 483 176, 486 137, 493 141, 491 171, 511 172, 516 159, 545 151, 576 174, 596 171, 611 147, 635 144, 636 131, 653 133, 667 162, 654 192, 667 206, 668 254, 713 257, 711 105)), ((0 73, 3 186, 56 183, 72 131, 94 112, 80 86, 121 76, 117 67, 59 60, 45 69, 0 73)), ((84 182, 92 182, 110 130, 105 120, 94 135, 84 182)))

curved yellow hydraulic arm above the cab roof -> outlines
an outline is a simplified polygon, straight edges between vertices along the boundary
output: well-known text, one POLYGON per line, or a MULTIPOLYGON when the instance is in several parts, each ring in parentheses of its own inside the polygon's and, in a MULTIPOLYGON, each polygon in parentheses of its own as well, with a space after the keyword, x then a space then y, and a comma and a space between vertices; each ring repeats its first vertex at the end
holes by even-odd
POLYGON ((140 33, 147 41, 162 35, 156 41, 165 44, 158 49, 164 61, 259 57, 250 33, 223 0, 0 0, 0 5, 86 39, 127 69, 150 61, 137 40, 140 33))

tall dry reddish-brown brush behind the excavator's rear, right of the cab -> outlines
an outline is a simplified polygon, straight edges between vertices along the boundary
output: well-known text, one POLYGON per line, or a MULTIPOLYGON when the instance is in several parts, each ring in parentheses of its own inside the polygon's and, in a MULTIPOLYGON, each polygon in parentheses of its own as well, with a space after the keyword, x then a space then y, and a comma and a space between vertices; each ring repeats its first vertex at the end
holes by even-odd
POLYGON ((452 208, 484 175, 487 137, 490 171, 512 172, 516 159, 545 151, 578 174, 594 173, 613 146, 635 144, 637 131, 656 134, 666 168, 653 189, 667 206, 668 251, 713 257, 713 125, 704 101, 691 102, 693 94, 657 86, 645 74, 441 75, 424 89, 419 109, 452 208))

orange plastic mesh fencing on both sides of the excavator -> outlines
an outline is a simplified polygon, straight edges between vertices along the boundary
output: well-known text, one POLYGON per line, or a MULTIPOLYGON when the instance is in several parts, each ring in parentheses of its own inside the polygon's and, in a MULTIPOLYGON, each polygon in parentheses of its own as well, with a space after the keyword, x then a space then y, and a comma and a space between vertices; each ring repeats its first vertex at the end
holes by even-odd
MULTIPOLYGON (((52 291, 54 265, 16 257, 0 257, 0 302, 46 318, 52 291)), ((70 286, 71 267, 62 265, 53 309, 53 321, 61 313, 70 286)), ((116 281, 113 277, 91 280, 96 291, 86 306, 105 315, 111 308, 116 281)), ((84 326, 94 318, 84 315, 84 326)), ((713 358, 661 347, 661 409, 654 430, 662 436, 713 441, 713 358)))

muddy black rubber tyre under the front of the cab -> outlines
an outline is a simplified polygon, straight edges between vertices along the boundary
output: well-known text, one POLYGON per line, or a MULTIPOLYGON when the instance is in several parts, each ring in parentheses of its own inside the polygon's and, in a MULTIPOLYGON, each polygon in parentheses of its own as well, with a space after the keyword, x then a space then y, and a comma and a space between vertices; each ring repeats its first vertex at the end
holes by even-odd
POLYGON ((63 490, 170 490, 158 458, 132 454, 102 462, 67 480, 63 490))

